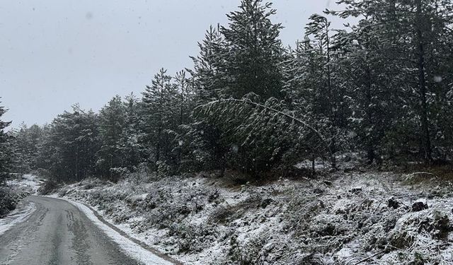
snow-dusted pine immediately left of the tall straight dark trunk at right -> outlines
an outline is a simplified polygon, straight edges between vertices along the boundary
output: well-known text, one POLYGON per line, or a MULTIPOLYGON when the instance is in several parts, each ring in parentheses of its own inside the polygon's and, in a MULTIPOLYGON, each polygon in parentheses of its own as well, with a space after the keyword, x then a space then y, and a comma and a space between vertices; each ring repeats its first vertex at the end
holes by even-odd
POLYGON ((391 78, 391 64, 382 50, 388 43, 379 41, 382 28, 374 18, 360 20, 350 33, 341 32, 334 45, 338 47, 337 71, 343 76, 345 98, 350 108, 349 129, 357 134, 355 146, 365 148, 369 163, 381 160, 384 136, 395 119, 399 104, 391 78))

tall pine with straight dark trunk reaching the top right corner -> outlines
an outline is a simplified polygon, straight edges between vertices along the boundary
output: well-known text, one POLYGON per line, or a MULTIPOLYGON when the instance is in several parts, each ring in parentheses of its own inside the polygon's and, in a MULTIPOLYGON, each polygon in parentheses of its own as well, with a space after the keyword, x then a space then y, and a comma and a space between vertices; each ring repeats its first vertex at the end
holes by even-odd
MULTIPOLYGON (((413 139, 409 134, 415 131, 415 139, 405 144, 413 146, 418 142, 420 157, 430 163, 435 126, 432 121, 435 119, 436 108, 442 109, 434 102, 445 104, 447 91, 446 83, 435 82, 436 79, 439 80, 435 76, 442 74, 444 68, 439 62, 445 54, 439 51, 449 50, 447 47, 450 44, 446 40, 451 35, 448 26, 452 23, 451 1, 362 0, 340 3, 347 4, 348 8, 337 12, 339 16, 361 15, 367 20, 373 20, 372 26, 380 29, 379 42, 386 44, 381 53, 386 55, 389 65, 398 67, 398 71, 394 71, 392 75, 393 85, 403 90, 400 107, 407 110, 398 117, 398 122, 405 126, 399 124, 396 127, 404 130, 403 135, 398 131, 395 132, 399 134, 396 137, 413 139), (444 100, 435 100, 435 95, 442 94, 444 100), (413 131, 408 128, 413 128, 413 131)), ((398 143, 394 141, 394 145, 398 146, 398 143)))

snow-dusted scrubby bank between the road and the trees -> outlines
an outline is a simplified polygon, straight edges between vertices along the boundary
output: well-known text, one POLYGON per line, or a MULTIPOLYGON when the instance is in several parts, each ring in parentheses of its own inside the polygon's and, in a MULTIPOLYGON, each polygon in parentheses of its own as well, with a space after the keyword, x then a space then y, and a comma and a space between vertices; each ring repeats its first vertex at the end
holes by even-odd
POLYGON ((453 264, 453 176, 345 167, 259 184, 136 174, 57 196, 185 264, 453 264))

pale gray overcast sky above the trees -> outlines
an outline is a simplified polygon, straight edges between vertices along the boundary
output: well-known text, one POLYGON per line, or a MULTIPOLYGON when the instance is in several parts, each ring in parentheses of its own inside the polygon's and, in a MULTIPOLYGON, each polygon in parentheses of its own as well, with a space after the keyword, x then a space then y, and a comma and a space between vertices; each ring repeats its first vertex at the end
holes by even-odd
MULTIPOLYGON (((333 0, 275 0, 274 22, 292 45, 307 18, 333 0)), ((226 25, 239 0, 1 0, 0 97, 13 126, 51 122, 78 102, 99 110, 136 95, 161 67, 191 67, 210 25, 226 25)), ((335 27, 342 20, 333 20, 335 27)))

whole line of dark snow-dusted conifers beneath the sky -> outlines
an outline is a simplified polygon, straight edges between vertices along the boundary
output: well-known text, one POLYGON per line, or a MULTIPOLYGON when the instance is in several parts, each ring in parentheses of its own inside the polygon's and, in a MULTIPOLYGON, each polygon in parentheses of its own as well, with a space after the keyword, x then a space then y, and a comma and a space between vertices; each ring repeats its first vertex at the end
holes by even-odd
POLYGON ((161 69, 142 95, 115 96, 98 113, 74 105, 11 131, 11 168, 115 180, 139 167, 253 176, 301 160, 336 167, 350 151, 369 164, 449 163, 452 1, 338 3, 345 9, 312 15, 285 47, 272 4, 242 0, 228 25, 206 31, 192 68, 161 69), (358 22, 336 29, 329 16, 358 22))

